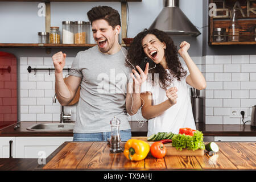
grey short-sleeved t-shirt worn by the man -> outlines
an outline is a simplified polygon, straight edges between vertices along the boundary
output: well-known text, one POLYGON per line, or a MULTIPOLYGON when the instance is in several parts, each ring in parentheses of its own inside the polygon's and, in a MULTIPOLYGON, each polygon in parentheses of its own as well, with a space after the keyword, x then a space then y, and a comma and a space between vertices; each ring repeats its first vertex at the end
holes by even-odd
POLYGON ((97 46, 77 53, 70 75, 81 77, 77 119, 73 133, 111 131, 110 119, 121 120, 120 130, 130 129, 125 98, 131 69, 125 67, 127 51, 108 55, 97 46))

